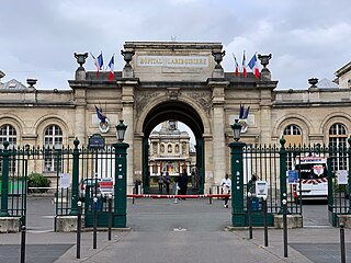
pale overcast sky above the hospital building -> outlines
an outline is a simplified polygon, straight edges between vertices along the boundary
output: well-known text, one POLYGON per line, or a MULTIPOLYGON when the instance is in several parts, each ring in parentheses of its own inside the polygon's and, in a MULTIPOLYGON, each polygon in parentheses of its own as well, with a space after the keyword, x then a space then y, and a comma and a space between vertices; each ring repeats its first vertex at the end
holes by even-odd
MULTIPOLYGON (((333 79, 351 59, 350 0, 11 0, 1 2, 2 82, 38 79, 37 89, 69 89, 73 53, 103 53, 105 65, 126 41, 220 42, 225 71, 256 53, 272 54, 279 89, 333 79)), ((87 70, 93 70, 88 58, 87 70)))

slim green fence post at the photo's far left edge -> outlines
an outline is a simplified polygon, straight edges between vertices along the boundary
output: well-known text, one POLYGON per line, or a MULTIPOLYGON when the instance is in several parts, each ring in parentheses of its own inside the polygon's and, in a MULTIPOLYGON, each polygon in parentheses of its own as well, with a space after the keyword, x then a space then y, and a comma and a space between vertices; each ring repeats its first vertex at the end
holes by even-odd
POLYGON ((9 141, 3 141, 2 156, 2 185, 1 185, 1 211, 0 217, 8 217, 8 199, 9 199, 9 141))

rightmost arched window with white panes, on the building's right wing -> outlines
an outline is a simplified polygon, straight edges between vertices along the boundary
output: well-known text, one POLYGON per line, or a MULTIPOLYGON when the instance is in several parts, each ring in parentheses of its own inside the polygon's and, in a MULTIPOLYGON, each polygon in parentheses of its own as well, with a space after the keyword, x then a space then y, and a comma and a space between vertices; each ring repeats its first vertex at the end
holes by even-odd
POLYGON ((332 170, 347 170, 348 159, 346 152, 341 149, 346 149, 348 141, 347 128, 343 124, 337 123, 329 128, 329 147, 336 149, 336 157, 331 159, 332 170))

